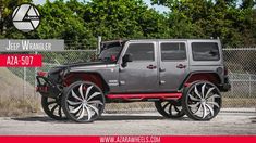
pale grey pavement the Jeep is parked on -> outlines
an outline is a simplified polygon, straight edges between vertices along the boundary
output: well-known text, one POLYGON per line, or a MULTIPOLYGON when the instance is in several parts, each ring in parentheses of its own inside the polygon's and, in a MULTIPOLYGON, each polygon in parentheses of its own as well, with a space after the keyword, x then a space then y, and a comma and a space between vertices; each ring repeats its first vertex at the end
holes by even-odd
POLYGON ((210 121, 164 119, 158 113, 105 114, 93 123, 56 121, 45 115, 0 118, 1 135, 195 135, 256 134, 256 113, 220 113, 210 121))

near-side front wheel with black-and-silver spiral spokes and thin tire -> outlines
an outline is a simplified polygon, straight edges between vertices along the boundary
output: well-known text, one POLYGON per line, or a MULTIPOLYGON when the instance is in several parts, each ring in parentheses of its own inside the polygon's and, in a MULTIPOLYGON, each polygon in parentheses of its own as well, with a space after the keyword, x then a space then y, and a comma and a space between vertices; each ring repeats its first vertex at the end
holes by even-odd
POLYGON ((62 107, 69 119, 77 122, 92 122, 101 116, 105 96, 95 83, 76 81, 64 91, 62 107))

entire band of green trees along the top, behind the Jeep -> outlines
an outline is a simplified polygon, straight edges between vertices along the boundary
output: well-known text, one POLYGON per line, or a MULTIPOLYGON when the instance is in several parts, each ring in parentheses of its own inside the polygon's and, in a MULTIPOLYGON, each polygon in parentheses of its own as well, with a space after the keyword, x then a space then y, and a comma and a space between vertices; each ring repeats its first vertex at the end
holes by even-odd
POLYGON ((219 37, 224 47, 256 44, 255 0, 151 0, 170 9, 164 14, 143 0, 47 0, 37 5, 41 14, 37 30, 24 34, 13 27, 11 13, 29 1, 3 1, 0 38, 64 39, 68 49, 95 48, 97 36, 103 40, 219 37))

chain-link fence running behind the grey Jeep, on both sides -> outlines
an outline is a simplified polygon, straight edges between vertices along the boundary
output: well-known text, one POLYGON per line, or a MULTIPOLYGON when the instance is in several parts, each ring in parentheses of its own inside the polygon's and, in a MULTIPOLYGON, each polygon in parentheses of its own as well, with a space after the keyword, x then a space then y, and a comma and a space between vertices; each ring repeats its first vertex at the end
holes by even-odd
MULTIPOLYGON (((14 114, 33 113, 40 109, 40 95, 36 93, 37 70, 49 70, 64 63, 89 62, 97 56, 96 50, 66 50, 60 52, 38 52, 42 55, 40 68, 0 68, 0 113, 17 108, 14 114), (20 110, 19 110, 20 108, 20 110), (25 108, 25 109, 22 109, 25 108)), ((235 112, 256 107, 256 48, 223 49, 225 65, 229 68, 231 91, 223 93, 224 108, 235 112)), ((154 103, 111 103, 106 112, 148 112, 155 110, 154 103)), ((12 110, 13 113, 13 110, 12 110)), ((8 115, 5 113, 4 115, 8 115)), ((13 115, 13 114, 12 114, 13 115)))

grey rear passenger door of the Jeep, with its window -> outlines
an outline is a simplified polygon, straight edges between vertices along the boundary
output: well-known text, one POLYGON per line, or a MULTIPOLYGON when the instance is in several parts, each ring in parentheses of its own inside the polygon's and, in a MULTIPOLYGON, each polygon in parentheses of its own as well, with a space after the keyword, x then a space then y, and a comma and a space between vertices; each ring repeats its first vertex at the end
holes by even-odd
POLYGON ((160 41, 159 90, 176 91, 188 73, 187 42, 160 41))

